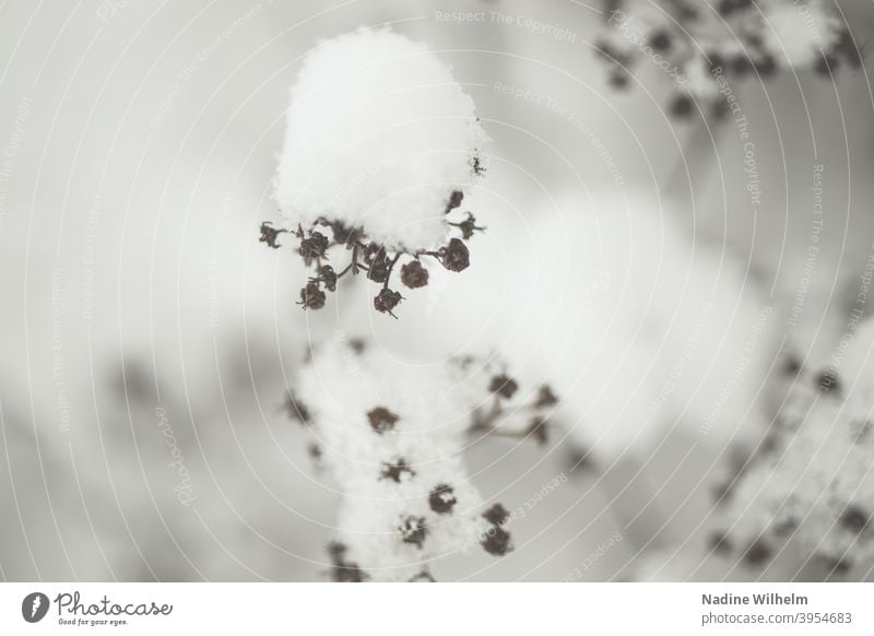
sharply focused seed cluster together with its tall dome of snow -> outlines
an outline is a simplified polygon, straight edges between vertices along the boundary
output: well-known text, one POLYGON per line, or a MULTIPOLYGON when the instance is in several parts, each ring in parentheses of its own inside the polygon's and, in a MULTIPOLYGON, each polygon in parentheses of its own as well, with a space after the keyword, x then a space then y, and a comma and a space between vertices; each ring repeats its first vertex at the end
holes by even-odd
POLYGON ((465 242, 482 228, 460 207, 485 172, 484 141, 473 101, 424 45, 383 28, 317 46, 292 89, 274 184, 283 222, 261 225, 271 247, 295 236, 315 270, 298 304, 321 308, 339 279, 365 272, 380 285, 374 308, 394 316, 395 273, 414 290, 428 283, 426 259, 466 269, 465 242))

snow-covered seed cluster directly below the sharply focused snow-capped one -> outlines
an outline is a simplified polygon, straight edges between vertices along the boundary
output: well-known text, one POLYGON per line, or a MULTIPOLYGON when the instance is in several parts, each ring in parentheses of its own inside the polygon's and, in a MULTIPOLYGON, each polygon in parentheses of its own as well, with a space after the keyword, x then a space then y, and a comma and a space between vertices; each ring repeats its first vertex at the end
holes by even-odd
POLYGON ((462 451, 484 435, 543 441, 555 403, 547 387, 525 391, 495 362, 413 365, 343 338, 315 348, 288 412, 342 494, 330 577, 433 580, 440 557, 510 551, 508 513, 483 503, 462 451))

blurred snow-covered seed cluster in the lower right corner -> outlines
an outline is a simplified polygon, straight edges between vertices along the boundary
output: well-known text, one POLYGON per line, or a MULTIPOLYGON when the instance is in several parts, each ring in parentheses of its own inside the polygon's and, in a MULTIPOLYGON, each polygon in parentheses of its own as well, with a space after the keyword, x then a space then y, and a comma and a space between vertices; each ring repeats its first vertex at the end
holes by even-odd
POLYGON ((713 547, 765 566, 788 544, 832 574, 874 564, 874 322, 839 365, 791 370, 758 452, 724 497, 713 547))

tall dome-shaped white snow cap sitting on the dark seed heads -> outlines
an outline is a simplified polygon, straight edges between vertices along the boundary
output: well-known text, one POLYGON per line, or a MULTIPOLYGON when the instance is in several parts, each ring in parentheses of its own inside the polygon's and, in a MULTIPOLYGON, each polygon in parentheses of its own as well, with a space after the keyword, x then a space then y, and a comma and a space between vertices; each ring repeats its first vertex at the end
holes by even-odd
POLYGON ((471 97, 424 45, 389 30, 321 43, 292 89, 275 200, 286 227, 319 217, 414 251, 442 244, 446 203, 476 182, 486 141, 471 97))

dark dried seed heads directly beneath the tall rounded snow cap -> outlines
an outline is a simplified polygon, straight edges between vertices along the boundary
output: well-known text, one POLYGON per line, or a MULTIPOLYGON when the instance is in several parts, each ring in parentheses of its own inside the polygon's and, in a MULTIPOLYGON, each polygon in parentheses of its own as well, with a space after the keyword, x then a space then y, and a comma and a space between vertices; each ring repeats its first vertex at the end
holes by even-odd
MULTIPOLYGON (((484 172, 480 158, 474 157, 471 169, 480 175, 484 172)), ((454 190, 446 203, 446 214, 452 213, 461 207, 464 193, 454 190)), ((327 302, 327 293, 336 291, 340 279, 346 275, 364 273, 365 278, 382 285, 374 296, 374 309, 397 318, 394 310, 404 299, 404 296, 392 287, 392 276, 400 270, 400 285, 409 290, 418 290, 428 284, 428 270, 423 260, 432 259, 451 272, 461 272, 471 263, 470 249, 465 244, 477 232, 485 228, 476 224, 476 217, 471 212, 464 212, 459 221, 447 221, 447 225, 458 228, 461 238, 451 237, 446 245, 436 250, 391 250, 385 245, 367 239, 364 227, 347 227, 340 221, 319 219, 312 227, 304 228, 300 225, 295 231, 281 229, 269 221, 261 224, 259 240, 268 247, 281 247, 277 238, 280 234, 288 233, 297 237, 297 254, 307 268, 315 269, 307 284, 300 290, 297 304, 304 309, 321 309, 327 302), (330 238, 328 236, 330 234, 330 238), (339 271, 328 264, 334 252, 347 256, 346 264, 339 271), (406 262, 399 263, 404 258, 406 262), (400 267, 399 267, 400 266, 400 267)))

